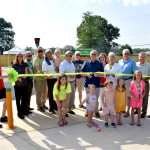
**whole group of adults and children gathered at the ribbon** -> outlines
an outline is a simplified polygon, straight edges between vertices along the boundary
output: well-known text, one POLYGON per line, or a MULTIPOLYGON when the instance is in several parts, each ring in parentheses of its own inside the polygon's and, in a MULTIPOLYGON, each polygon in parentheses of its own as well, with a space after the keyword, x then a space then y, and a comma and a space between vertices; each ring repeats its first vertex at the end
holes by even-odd
MULTIPOLYGON (((43 48, 39 47, 37 56, 33 60, 32 53, 28 51, 24 61, 23 55, 18 53, 12 67, 19 74, 45 74, 45 76, 23 76, 17 79, 14 90, 18 117, 24 119, 25 116, 32 113, 30 100, 34 83, 37 110, 44 112, 48 109, 45 105, 48 96, 49 112, 55 114, 57 111, 60 126, 68 123, 66 120, 68 114, 75 115, 73 109, 75 108, 76 90, 79 94, 79 107, 87 109, 85 116, 88 119, 88 127, 94 124, 93 114, 97 118, 100 117, 100 110, 103 110, 105 114, 106 127, 108 127, 109 115, 111 116, 111 125, 116 127, 114 114, 116 114, 117 125, 122 125, 122 113, 126 111, 124 117, 128 117, 130 107, 132 107, 130 125, 134 125, 134 113, 137 112, 137 125, 140 126, 140 118, 146 117, 147 114, 149 95, 149 77, 142 78, 142 75, 150 76, 150 64, 145 61, 145 53, 139 53, 139 62, 137 63, 130 58, 128 49, 123 50, 123 59, 118 63, 116 63, 113 52, 108 54, 108 61, 105 53, 101 53, 97 59, 96 50, 91 51, 90 60, 86 62, 80 60, 80 55, 80 52, 76 51, 73 59, 73 53, 67 51, 62 61, 59 48, 55 50, 52 58, 50 49, 45 51, 44 56, 43 48), (58 76, 56 73, 61 73, 61 75, 58 76), (75 75, 74 73, 81 74, 75 75), (133 77, 121 74, 133 74, 133 77), (82 101, 84 89, 87 96, 82 101), (86 107, 83 105, 85 102, 86 107)), ((4 78, 1 76, 1 72, 0 77, 4 78)), ((2 82, 2 79, 0 81, 2 82)), ((3 89, 4 87, 0 87, 0 92, 3 89)), ((2 93, 4 94, 5 90, 2 93)), ((0 98, 5 98, 1 95, 0 93, 0 98)), ((6 118, 3 113, 2 118, 4 117, 6 118)))

